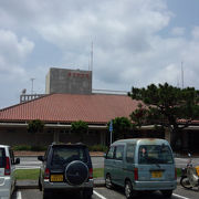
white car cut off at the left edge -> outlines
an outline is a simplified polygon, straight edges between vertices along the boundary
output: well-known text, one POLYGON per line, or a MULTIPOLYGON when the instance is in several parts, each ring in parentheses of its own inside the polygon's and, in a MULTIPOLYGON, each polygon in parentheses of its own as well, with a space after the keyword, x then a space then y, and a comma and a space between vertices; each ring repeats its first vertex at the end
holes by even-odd
POLYGON ((14 160, 10 146, 0 145, 0 199, 10 199, 15 188, 15 165, 20 159, 14 160))

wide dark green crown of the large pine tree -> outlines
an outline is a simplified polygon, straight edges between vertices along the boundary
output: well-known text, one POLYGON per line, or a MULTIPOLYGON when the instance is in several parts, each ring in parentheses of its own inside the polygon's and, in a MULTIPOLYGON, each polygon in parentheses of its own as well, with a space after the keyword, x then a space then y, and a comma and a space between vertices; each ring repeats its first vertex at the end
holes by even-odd
MULTIPOLYGON (((129 95, 133 100, 143 101, 148 106, 144 116, 150 122, 167 122, 175 125, 178 118, 190 122, 199 117, 199 92, 193 87, 179 88, 167 83, 158 86, 151 84, 147 88, 133 87, 129 95)), ((136 109, 138 111, 140 108, 136 109)))

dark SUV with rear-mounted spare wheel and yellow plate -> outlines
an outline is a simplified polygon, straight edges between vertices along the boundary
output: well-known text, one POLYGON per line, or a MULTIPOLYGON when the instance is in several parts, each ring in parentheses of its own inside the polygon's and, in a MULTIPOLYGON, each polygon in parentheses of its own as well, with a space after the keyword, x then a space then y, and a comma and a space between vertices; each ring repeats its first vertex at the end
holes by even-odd
POLYGON ((93 195, 93 167, 88 149, 83 144, 52 144, 40 168, 39 187, 43 198, 51 191, 77 190, 83 198, 93 195))

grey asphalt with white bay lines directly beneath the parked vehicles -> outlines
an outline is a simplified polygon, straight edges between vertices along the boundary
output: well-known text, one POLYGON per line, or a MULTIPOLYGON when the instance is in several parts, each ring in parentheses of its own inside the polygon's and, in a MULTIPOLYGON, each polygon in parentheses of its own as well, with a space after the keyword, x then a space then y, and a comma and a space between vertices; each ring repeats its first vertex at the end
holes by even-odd
MULTIPOLYGON (((171 199, 198 199, 199 192, 196 190, 185 190, 181 187, 178 187, 171 199)), ((12 199, 42 199, 42 192, 39 189, 25 189, 25 190, 18 190, 13 193, 12 199)), ((73 199, 81 199, 81 195, 76 192, 72 193, 54 193, 50 197, 50 199, 64 199, 64 198, 73 198, 73 199)), ((139 199, 164 199, 160 192, 154 193, 142 193, 139 199)), ((95 188, 92 199, 125 199, 123 189, 114 189, 109 190, 105 187, 103 188, 95 188)))

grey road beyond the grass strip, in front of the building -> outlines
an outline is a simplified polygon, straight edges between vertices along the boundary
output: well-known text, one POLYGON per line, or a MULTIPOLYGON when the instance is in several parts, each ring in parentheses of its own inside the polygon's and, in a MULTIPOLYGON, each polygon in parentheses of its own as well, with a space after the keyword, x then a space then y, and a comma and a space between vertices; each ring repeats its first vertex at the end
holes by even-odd
MULTIPOLYGON (((17 168, 39 168, 41 161, 36 157, 20 157, 20 165, 17 168)), ((187 165, 188 158, 176 158, 177 168, 182 168, 187 165)), ((104 157, 92 157, 93 168, 104 167, 104 157)), ((193 165, 199 165, 199 158, 192 158, 193 165)))

